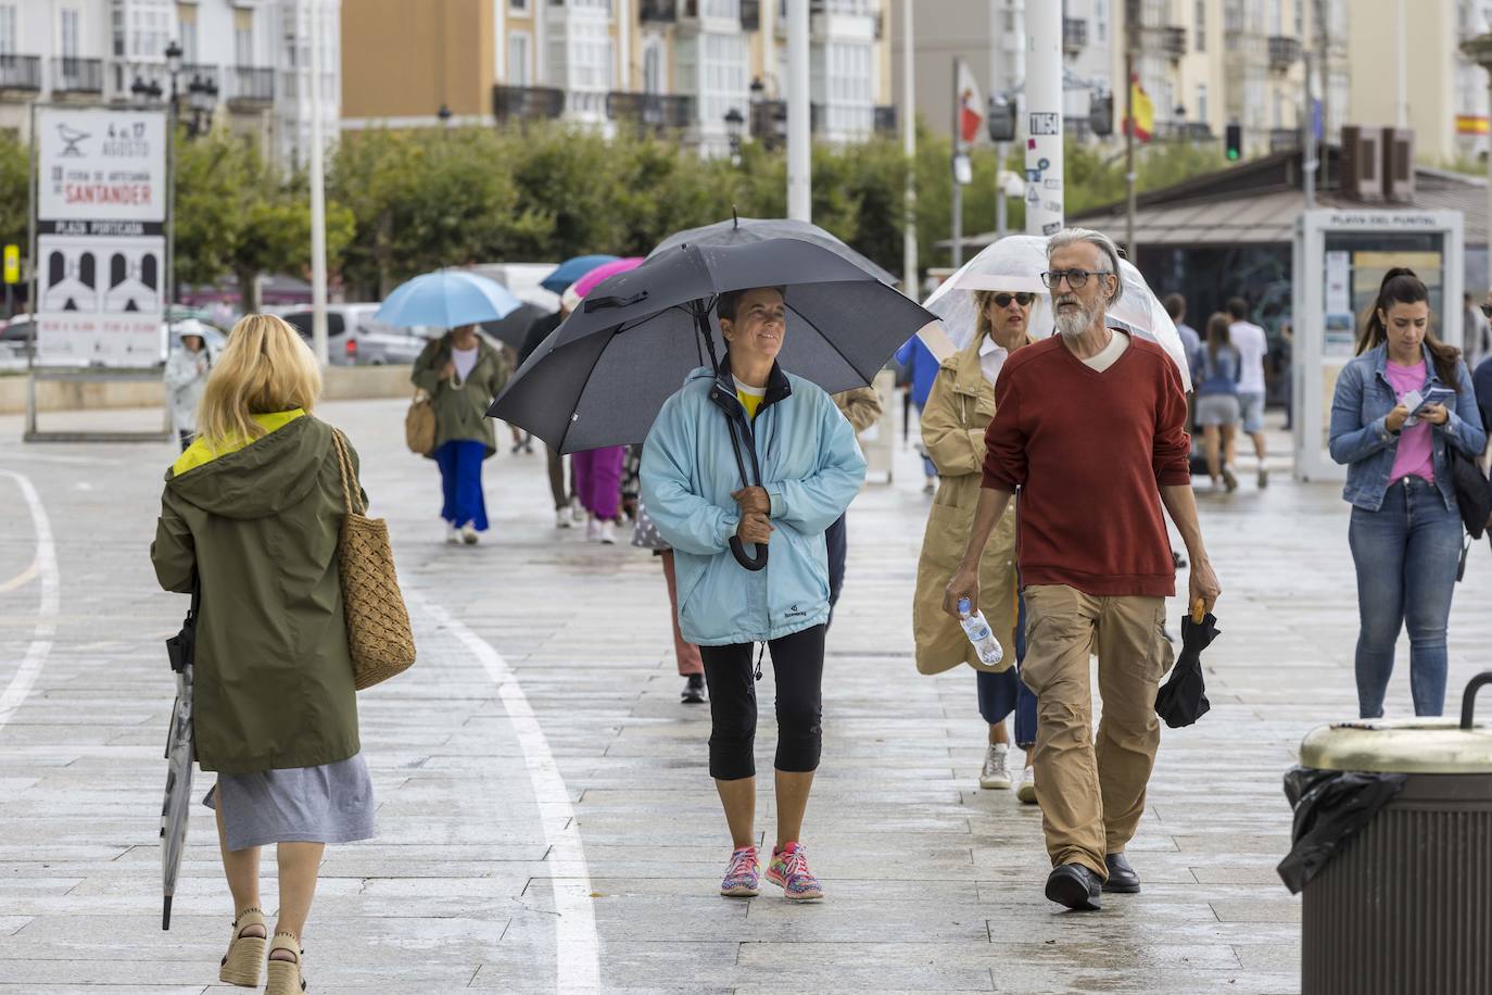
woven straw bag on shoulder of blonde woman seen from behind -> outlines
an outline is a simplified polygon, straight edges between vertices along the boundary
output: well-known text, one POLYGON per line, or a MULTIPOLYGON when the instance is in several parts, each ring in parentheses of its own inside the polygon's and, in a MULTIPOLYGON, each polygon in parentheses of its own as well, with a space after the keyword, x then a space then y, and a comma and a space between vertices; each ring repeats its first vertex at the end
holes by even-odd
POLYGON ((336 428, 331 430, 331 440, 342 470, 342 497, 348 503, 337 540, 342 610, 348 622, 352 683, 363 691, 409 670, 415 662, 415 634, 409 628, 398 577, 394 576, 388 524, 366 516, 363 488, 352 471, 346 442, 336 428))

